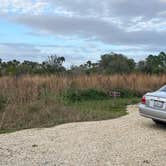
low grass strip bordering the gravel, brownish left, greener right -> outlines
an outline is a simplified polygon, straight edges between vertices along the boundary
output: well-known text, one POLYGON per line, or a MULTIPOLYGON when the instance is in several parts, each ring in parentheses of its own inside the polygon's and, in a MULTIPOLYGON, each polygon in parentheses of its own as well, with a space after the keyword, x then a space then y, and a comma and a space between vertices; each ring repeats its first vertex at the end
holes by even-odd
POLYGON ((7 110, 0 133, 20 129, 51 127, 68 122, 96 121, 126 115, 126 105, 138 103, 139 98, 91 100, 58 104, 53 100, 7 110))

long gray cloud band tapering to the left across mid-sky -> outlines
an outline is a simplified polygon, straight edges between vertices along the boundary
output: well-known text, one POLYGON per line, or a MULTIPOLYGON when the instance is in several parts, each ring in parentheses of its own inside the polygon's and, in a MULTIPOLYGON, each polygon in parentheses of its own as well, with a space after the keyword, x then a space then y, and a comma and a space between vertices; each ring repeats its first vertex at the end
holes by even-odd
POLYGON ((82 38, 98 40, 116 45, 165 45, 165 31, 127 31, 127 26, 95 17, 80 16, 26 16, 12 18, 14 21, 54 35, 78 35, 82 38))

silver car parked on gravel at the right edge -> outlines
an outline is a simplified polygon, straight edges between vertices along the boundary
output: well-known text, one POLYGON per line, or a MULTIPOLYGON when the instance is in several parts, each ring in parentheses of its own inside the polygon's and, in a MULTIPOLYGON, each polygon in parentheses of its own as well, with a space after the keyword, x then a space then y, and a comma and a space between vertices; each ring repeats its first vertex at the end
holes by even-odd
POLYGON ((156 123, 166 122, 166 86, 155 92, 146 93, 139 105, 139 113, 156 123))

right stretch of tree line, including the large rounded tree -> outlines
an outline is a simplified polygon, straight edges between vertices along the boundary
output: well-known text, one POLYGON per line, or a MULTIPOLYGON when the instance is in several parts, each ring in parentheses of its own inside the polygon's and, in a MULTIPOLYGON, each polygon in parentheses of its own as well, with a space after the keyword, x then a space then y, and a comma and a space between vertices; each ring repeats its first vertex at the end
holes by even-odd
POLYGON ((146 74, 166 74, 166 54, 149 55, 145 60, 135 62, 123 54, 109 53, 101 56, 97 63, 87 61, 80 66, 72 66, 72 73, 126 74, 141 72, 146 74))

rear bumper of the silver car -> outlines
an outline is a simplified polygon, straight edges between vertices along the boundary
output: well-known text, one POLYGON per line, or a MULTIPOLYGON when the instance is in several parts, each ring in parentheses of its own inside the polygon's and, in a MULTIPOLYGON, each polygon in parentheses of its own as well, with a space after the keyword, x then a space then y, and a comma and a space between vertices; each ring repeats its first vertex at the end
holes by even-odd
POLYGON ((161 111, 161 110, 147 107, 144 104, 140 104, 139 113, 141 116, 166 122, 166 110, 161 111))

